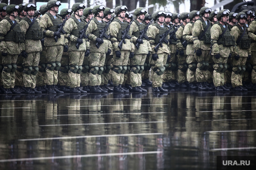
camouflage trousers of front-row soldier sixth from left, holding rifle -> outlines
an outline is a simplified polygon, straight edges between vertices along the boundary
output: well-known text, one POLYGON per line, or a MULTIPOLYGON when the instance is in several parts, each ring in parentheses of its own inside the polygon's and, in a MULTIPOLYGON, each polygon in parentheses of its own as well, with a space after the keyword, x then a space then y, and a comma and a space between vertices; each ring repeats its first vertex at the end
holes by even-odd
MULTIPOLYGON (((116 57, 116 52, 113 53, 113 66, 126 66, 128 63, 128 59, 130 56, 130 51, 127 50, 121 50, 121 58, 116 57)), ((115 68, 114 68, 115 69, 115 68)), ((112 80, 113 80, 113 85, 118 86, 119 84, 123 84, 124 82, 124 74, 122 73, 117 73, 116 71, 113 70, 112 72, 112 80)))

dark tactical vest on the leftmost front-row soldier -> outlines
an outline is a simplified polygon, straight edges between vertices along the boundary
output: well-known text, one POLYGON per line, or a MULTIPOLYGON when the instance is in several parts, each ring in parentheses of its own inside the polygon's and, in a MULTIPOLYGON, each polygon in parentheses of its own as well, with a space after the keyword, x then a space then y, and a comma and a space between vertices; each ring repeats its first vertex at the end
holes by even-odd
MULTIPOLYGON (((6 19, 11 24, 11 26, 13 25, 12 20, 9 17, 6 17, 4 19, 6 19)), ((20 24, 17 23, 13 27, 13 29, 8 34, 6 34, 4 36, 4 41, 13 41, 13 42, 16 42, 16 43, 23 43, 24 42, 24 37, 25 37, 25 35, 21 31, 20 24)))

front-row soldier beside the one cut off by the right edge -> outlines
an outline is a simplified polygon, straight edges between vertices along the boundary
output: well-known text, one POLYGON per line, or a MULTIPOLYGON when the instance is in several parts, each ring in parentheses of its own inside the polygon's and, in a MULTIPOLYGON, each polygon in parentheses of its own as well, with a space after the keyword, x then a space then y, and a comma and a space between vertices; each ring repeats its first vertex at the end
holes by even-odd
POLYGON ((236 15, 238 23, 232 27, 230 32, 235 39, 235 46, 233 46, 231 59, 231 64, 233 65, 231 83, 235 91, 247 91, 247 89, 243 88, 242 84, 242 75, 246 69, 246 60, 247 58, 250 60, 252 57, 250 49, 251 40, 248 38, 248 33, 245 26, 247 18, 248 15, 246 13, 239 12, 236 15))

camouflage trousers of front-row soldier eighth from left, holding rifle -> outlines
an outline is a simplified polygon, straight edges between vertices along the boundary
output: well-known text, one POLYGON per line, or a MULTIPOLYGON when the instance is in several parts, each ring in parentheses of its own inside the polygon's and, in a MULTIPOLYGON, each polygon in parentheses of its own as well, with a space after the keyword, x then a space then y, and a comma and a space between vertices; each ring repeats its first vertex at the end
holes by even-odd
MULTIPOLYGON (((158 54, 158 59, 155 61, 155 67, 164 67, 164 65, 166 64, 166 60, 167 60, 167 53, 161 53, 158 54)), ((157 69, 157 71, 159 72, 160 70, 157 69)), ((157 75, 157 71, 154 72, 153 75, 153 80, 152 80, 152 87, 156 88, 156 87, 162 87, 162 83, 163 83, 163 74, 161 75, 157 75)))

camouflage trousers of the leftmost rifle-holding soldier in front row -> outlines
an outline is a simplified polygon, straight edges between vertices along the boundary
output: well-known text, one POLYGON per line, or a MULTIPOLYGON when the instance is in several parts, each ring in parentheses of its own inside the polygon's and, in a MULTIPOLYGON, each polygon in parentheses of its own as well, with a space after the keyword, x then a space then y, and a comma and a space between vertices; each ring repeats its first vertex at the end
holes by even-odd
MULTIPOLYGON (((47 46, 46 47, 46 61, 47 66, 51 67, 50 62, 56 62, 61 60, 61 56, 63 53, 63 45, 57 46, 47 46)), ((57 70, 50 70, 48 68, 46 70, 46 81, 47 85, 57 85, 58 83, 58 71, 57 70)))

